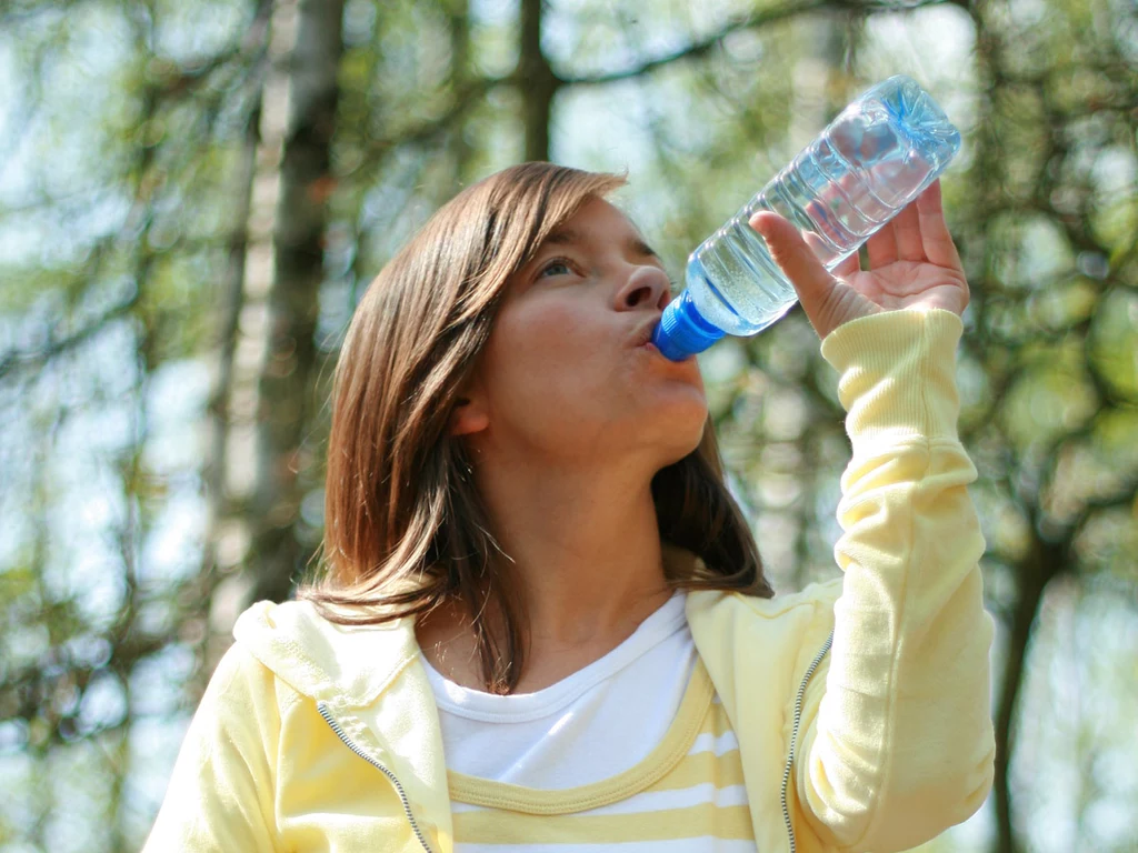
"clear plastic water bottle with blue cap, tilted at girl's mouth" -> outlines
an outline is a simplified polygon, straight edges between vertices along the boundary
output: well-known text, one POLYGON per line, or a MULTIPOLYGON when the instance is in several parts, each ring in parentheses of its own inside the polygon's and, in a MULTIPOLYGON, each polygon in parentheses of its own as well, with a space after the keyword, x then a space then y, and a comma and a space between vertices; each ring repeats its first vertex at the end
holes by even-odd
POLYGON ((916 81, 897 75, 867 90, 691 254, 686 288, 665 308, 652 342, 681 361, 724 334, 762 331, 798 301, 748 224, 756 212, 789 220, 833 270, 920 196, 959 148, 959 131, 916 81))

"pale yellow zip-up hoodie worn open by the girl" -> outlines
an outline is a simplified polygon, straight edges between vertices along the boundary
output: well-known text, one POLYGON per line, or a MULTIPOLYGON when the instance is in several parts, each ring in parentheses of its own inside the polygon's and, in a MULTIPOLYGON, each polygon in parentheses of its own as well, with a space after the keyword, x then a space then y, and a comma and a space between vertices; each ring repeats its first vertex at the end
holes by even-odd
MULTIPOLYGON (((896 310, 822 342, 852 445, 841 574, 773 599, 687 596, 760 853, 906 850, 991 788, 995 624, 956 430, 962 331, 951 312, 896 310)), ((698 560, 665 545, 666 560, 698 560)), ((233 635, 145 853, 453 851, 411 620, 346 628, 306 603, 258 602, 233 635)))

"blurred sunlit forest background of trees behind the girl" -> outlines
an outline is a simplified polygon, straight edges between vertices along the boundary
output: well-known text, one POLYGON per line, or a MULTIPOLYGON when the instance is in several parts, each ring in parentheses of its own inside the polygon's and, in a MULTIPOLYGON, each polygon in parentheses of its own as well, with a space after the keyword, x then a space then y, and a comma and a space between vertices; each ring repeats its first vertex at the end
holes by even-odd
MULTIPOLYGON (((999 632, 983 809, 923 850, 1138 851, 1132 0, 0 2, 0 851, 138 850, 237 614, 311 571, 353 306, 463 185, 629 171, 686 254, 916 77, 972 301, 999 632)), ((701 356, 776 589, 849 446, 799 307, 701 356)))

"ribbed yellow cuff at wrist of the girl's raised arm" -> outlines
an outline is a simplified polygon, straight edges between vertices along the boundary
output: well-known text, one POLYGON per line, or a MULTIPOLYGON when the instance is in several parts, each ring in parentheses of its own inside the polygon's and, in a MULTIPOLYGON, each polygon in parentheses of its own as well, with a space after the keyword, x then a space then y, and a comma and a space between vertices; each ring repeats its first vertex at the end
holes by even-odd
POLYGON ((958 440, 956 347, 963 331, 958 315, 929 308, 871 314, 826 336, 822 357, 839 373, 855 453, 920 438, 958 440))

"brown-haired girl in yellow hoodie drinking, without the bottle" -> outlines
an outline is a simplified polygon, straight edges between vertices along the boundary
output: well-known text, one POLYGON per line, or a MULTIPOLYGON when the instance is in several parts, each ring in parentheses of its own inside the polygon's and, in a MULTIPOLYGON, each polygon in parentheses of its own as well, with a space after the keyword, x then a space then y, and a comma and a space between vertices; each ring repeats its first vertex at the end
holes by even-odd
POLYGON ((336 374, 324 564, 237 623, 147 851, 873 851, 992 781, 968 288, 932 184, 831 276, 752 220, 838 371, 841 572, 774 595, 667 274, 545 163, 444 206, 336 374))

